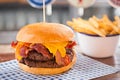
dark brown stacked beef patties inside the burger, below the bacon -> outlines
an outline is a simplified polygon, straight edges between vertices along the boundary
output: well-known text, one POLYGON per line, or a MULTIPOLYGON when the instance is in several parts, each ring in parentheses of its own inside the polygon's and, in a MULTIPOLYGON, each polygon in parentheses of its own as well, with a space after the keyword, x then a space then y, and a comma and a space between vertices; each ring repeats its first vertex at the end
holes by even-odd
MULTIPOLYGON (((66 49, 66 55, 70 57, 70 60, 73 59, 73 51, 72 49, 66 49)), ((62 67, 55 62, 55 57, 50 53, 50 58, 44 57, 41 53, 38 53, 35 50, 29 51, 28 56, 26 58, 22 58, 20 63, 23 63, 30 67, 37 68, 59 68, 62 67)))

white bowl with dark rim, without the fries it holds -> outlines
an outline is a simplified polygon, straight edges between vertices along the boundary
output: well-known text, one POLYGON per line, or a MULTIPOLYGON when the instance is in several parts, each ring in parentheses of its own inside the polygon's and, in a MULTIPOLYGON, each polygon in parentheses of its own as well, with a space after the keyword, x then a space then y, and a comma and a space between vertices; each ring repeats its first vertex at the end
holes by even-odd
POLYGON ((113 56, 119 40, 119 35, 100 37, 96 35, 77 33, 77 37, 80 50, 84 54, 95 58, 113 56))

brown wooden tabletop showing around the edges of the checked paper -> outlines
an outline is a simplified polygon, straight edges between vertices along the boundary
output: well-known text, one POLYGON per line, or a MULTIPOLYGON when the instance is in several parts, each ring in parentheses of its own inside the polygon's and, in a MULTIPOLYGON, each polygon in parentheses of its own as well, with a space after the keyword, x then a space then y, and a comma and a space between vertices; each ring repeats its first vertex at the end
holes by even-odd
MULTIPOLYGON (((119 51, 117 51, 119 53, 119 51)), ((120 54, 115 54, 113 57, 109 57, 109 58, 104 58, 104 59, 98 59, 98 58, 93 58, 95 60, 98 60, 100 62, 103 62, 105 64, 114 66, 114 67, 120 67, 120 54)), ((14 53, 0 53, 0 62, 4 62, 4 61, 9 61, 15 59, 14 53)), ((110 74, 107 76, 103 76, 100 78, 96 78, 93 80, 120 80, 120 72, 114 73, 114 74, 110 74)))

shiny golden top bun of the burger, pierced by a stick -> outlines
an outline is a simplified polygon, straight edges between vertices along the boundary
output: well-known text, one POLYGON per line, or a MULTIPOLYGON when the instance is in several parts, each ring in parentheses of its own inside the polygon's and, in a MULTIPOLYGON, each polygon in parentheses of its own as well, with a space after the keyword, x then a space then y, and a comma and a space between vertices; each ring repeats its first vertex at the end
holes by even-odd
POLYGON ((64 42, 73 39, 73 31, 63 24, 41 22, 24 26, 16 39, 28 43, 64 42))

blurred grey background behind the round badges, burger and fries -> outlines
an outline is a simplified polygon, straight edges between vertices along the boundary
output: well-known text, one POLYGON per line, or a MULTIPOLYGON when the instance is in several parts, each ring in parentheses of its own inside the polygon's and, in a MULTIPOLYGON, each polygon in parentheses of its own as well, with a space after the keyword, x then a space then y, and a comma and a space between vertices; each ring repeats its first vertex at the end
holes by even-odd
MULTIPOLYGON (((47 22, 66 24, 75 17, 87 19, 93 15, 102 17, 107 14, 111 20, 120 16, 120 9, 113 8, 107 0, 96 0, 95 4, 84 9, 84 15, 79 16, 78 8, 71 6, 67 0, 56 0, 52 15, 46 15, 47 22)), ((17 31, 26 24, 41 22, 42 9, 32 8, 26 0, 0 0, 0 44, 10 44, 15 41, 17 31)))

